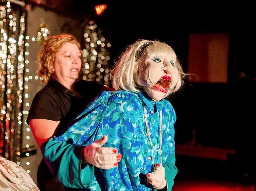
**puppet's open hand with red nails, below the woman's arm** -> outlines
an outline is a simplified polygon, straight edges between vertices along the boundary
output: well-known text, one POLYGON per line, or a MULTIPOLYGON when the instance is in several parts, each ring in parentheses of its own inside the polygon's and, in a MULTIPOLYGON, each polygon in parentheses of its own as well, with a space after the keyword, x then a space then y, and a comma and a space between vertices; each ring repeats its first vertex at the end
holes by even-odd
POLYGON ((94 141, 84 148, 84 159, 100 169, 111 169, 118 165, 122 155, 117 153, 117 149, 102 147, 108 141, 104 135, 101 139, 94 141))

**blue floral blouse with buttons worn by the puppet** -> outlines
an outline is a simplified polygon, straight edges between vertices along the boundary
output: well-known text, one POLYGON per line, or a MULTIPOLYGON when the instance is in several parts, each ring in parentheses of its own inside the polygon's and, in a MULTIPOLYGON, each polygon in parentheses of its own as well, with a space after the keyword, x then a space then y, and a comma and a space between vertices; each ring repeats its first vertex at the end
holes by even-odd
MULTIPOLYGON (((165 168, 168 190, 172 189, 173 179, 177 174, 174 141, 176 113, 173 106, 167 99, 156 102, 143 93, 122 90, 103 91, 61 136, 50 140, 89 145, 103 135, 108 136, 108 142, 104 146, 116 148, 122 154, 122 159, 115 168, 95 170, 95 176, 88 186, 90 190, 152 190, 152 186, 145 182, 146 174, 152 171, 152 157, 155 164, 160 163, 160 152, 152 152, 142 101, 146 106, 150 136, 156 149, 160 146, 159 112, 162 110, 162 165, 165 168)), ((63 181, 64 176, 61 177, 60 174, 58 179, 63 181)), ((84 176, 79 178, 81 177, 84 176)))

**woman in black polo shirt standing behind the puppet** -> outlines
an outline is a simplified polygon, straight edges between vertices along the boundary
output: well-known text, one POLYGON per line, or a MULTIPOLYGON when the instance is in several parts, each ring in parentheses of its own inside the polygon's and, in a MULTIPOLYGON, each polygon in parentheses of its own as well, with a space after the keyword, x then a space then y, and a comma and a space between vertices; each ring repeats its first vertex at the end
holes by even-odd
MULTIPOLYGON (((80 43, 70 34, 51 36, 38 53, 37 74, 46 85, 35 95, 27 123, 41 150, 44 149, 44 143, 53 135, 58 135, 61 128, 65 127, 99 92, 109 90, 95 82, 79 81, 81 56, 80 43)), ((102 141, 96 141, 88 147, 99 147, 97 153, 103 150, 106 154, 101 155, 99 167, 112 168, 118 162, 118 153, 112 148, 101 147, 107 140, 102 141), (108 158, 110 164, 102 164, 105 161, 104 157, 108 158)), ((80 149, 82 151, 83 147, 80 149)), ((82 156, 76 158, 78 163, 81 160, 82 156)), ((94 160, 97 162, 98 158, 92 158, 92 163, 94 160)), ((55 181, 44 160, 38 168, 37 179, 41 191, 63 190, 63 186, 55 181)))

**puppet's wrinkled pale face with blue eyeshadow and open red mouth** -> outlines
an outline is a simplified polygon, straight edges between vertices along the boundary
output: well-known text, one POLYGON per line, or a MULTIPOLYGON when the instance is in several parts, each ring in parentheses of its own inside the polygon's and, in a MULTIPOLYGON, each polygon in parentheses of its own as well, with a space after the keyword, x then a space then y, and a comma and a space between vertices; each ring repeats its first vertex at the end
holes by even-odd
POLYGON ((175 61, 171 54, 161 52, 154 56, 145 53, 138 59, 136 82, 153 100, 161 100, 177 84, 175 61))

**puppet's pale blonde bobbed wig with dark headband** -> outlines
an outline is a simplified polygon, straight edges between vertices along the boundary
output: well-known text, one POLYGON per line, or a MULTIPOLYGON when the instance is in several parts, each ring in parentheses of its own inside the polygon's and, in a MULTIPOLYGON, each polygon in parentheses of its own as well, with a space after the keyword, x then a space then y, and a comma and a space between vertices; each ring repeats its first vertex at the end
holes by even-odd
POLYGON ((117 61, 115 61, 114 67, 110 73, 112 87, 115 90, 141 92, 143 87, 140 87, 135 80, 138 62, 140 62, 140 58, 144 54, 150 57, 159 52, 170 54, 174 62, 174 67, 178 70, 178 82, 172 89, 168 90, 165 97, 178 91, 183 86, 186 74, 183 72, 174 50, 166 43, 145 39, 137 40, 126 47, 125 51, 119 56, 117 61))

